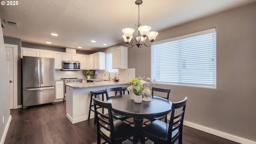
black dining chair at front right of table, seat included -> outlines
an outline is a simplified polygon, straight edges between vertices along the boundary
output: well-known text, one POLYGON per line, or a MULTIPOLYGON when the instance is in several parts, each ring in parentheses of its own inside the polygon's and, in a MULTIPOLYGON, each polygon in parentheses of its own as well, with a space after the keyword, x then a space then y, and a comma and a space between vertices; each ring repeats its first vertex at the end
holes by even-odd
POLYGON ((172 103, 172 112, 169 124, 161 120, 155 120, 141 129, 142 144, 147 139, 159 144, 174 144, 179 139, 179 144, 182 144, 182 128, 185 114, 187 97, 179 102, 172 103), (175 111, 178 110, 178 113, 175 111))

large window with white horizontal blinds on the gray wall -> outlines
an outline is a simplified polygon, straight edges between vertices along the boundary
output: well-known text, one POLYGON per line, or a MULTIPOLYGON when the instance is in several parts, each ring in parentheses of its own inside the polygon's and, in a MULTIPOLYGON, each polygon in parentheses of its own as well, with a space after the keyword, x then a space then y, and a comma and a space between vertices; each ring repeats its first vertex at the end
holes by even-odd
POLYGON ((216 88, 216 29, 154 42, 151 78, 163 84, 216 88))

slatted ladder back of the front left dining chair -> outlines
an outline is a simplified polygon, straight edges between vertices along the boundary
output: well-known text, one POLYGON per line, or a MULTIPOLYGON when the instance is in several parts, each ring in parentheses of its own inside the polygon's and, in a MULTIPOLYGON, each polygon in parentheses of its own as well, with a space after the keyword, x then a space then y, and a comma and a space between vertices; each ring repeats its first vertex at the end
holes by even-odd
POLYGON ((94 114, 96 118, 96 126, 97 126, 97 139, 100 140, 100 136, 108 143, 114 142, 114 122, 112 117, 112 105, 109 102, 103 102, 94 97, 94 114), (99 112, 97 107, 108 109, 108 116, 103 115, 99 112), (106 135, 107 134, 107 135, 106 135))

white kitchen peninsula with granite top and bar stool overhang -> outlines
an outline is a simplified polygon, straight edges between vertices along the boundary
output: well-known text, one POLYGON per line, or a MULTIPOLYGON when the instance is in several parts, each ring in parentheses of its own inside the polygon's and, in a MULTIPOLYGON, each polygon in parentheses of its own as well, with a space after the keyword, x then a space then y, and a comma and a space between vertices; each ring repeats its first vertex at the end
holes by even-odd
MULTIPOLYGON (((77 122, 82 122, 88 119, 88 112, 90 108, 90 91, 105 90, 106 88, 116 88, 116 87, 128 87, 127 82, 112 82, 112 81, 102 81, 102 82, 88 82, 88 83, 71 83, 66 85, 66 116, 75 124, 77 122)), ((101 99, 101 96, 97 96, 101 99)), ((104 101, 106 101, 106 96, 104 95, 104 101)), ((104 110, 104 113, 108 113, 104 110)), ((90 118, 94 118, 94 113, 91 112, 90 118)))

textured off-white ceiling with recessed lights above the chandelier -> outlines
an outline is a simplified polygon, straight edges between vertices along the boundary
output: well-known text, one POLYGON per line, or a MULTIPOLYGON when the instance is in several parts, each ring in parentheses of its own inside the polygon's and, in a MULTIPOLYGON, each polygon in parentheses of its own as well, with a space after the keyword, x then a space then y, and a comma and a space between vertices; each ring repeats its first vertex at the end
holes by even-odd
MULTIPOLYGON (((255 1, 144 0, 140 22, 151 26, 151 31, 160 31, 255 1)), ((124 42, 122 29, 134 28, 138 6, 135 0, 19 0, 18 6, 0 5, 0 17, 4 36, 96 51, 124 42), (18 27, 7 25, 4 20, 18 22, 18 27)))

